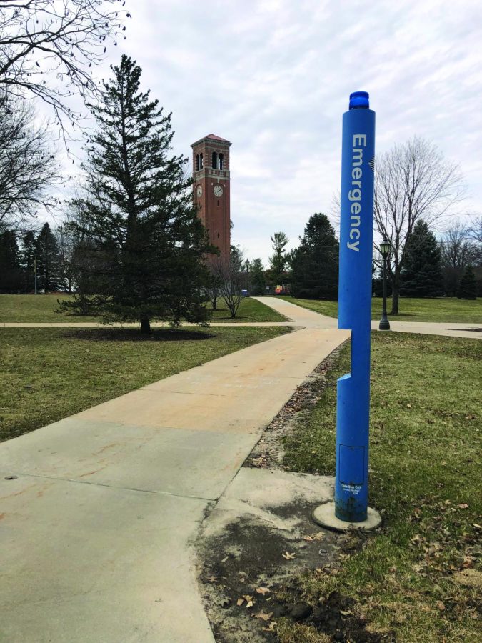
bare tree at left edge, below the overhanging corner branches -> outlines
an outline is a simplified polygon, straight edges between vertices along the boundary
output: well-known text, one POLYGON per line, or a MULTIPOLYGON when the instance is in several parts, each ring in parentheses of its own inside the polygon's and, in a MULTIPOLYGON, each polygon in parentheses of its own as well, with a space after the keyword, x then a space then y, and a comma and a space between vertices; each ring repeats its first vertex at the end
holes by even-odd
POLYGON ((59 183, 61 168, 49 132, 34 120, 31 106, 0 100, 0 224, 19 226, 56 203, 50 189, 59 183))

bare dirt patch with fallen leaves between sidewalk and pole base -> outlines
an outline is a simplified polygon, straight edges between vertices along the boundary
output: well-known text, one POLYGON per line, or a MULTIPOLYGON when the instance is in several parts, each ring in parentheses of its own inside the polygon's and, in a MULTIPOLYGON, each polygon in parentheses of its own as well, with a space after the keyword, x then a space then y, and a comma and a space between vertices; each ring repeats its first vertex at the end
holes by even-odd
POLYGON ((279 619, 303 624, 329 641, 393 642, 392 634, 371 632, 355 601, 331 592, 308 604, 296 577, 306 570, 337 574, 343 554, 363 545, 363 534, 336 534, 311 524, 312 506, 284 506, 284 519, 297 527, 274 529, 243 516, 221 534, 201 541, 199 581, 216 642, 276 641, 279 619))

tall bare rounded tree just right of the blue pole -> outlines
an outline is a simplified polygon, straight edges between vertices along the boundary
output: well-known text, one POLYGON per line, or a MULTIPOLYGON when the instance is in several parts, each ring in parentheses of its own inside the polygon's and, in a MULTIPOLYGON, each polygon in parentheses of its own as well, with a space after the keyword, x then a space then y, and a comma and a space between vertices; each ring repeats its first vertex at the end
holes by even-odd
POLYGON ((387 261, 393 284, 391 314, 398 314, 400 274, 413 226, 419 219, 429 227, 441 221, 463 193, 458 166, 443 159, 428 141, 414 136, 377 157, 374 216, 378 232, 391 244, 387 261))

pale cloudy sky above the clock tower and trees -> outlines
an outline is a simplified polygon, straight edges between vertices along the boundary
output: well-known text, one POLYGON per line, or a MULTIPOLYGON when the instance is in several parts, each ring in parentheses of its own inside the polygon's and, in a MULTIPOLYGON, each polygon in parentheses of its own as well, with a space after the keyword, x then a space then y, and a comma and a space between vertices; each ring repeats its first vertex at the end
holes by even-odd
POLYGON ((463 211, 482 212, 480 0, 126 0, 129 54, 166 111, 176 153, 231 141, 234 243, 267 261, 270 236, 298 244, 338 191, 341 115, 370 93, 376 150, 414 134, 461 166, 463 211))

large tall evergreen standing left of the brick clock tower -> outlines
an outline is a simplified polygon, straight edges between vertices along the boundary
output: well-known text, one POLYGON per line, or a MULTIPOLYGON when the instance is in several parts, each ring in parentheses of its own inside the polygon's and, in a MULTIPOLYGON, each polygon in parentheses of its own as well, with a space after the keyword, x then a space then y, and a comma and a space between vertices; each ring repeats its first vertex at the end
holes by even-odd
POLYGON ((171 115, 139 90, 141 68, 128 56, 111 67, 97 131, 86 148, 88 197, 77 226, 103 253, 111 319, 202 323, 209 312, 203 258, 213 251, 186 179, 184 156, 171 156, 171 115))

